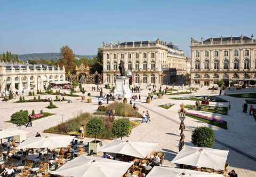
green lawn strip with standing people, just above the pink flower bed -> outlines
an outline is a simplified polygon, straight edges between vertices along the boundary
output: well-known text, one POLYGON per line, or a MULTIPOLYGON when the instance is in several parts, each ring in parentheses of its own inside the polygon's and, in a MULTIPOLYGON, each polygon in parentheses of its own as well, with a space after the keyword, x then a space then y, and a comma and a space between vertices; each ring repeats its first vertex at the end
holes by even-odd
MULTIPOLYGON (((185 108, 190 109, 190 110, 196 110, 195 105, 187 104, 185 108)), ((206 112, 212 112, 212 113, 217 113, 217 114, 223 114, 223 115, 228 115, 228 107, 217 107, 217 106, 201 106, 202 111, 206 112)))

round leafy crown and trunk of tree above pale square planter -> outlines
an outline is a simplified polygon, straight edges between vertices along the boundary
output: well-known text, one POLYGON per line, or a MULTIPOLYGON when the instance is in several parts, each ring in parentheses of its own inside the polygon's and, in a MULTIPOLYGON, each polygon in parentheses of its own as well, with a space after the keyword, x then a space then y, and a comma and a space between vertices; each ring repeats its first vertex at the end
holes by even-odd
POLYGON ((89 120, 89 122, 86 124, 86 133, 89 135, 94 135, 94 139, 96 142, 96 136, 100 133, 102 133, 104 128, 104 124, 101 118, 92 118, 89 120))

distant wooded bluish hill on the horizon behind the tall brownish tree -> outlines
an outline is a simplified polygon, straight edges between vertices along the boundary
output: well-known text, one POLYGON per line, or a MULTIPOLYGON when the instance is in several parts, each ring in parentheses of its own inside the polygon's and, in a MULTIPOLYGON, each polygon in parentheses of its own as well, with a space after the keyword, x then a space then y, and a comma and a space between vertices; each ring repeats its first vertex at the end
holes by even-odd
MULTIPOLYGON (((94 58, 96 55, 76 55, 78 58, 94 58)), ((21 60, 35 60, 35 59, 43 59, 43 60, 59 60, 60 53, 28 53, 18 55, 21 60)))

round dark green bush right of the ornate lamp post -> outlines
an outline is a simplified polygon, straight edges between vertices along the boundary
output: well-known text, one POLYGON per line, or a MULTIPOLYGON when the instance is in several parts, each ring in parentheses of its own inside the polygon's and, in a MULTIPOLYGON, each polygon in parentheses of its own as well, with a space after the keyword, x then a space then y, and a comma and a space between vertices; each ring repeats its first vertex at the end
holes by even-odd
POLYGON ((214 145, 214 132, 206 126, 197 127, 191 136, 192 143, 197 147, 211 148, 214 145))

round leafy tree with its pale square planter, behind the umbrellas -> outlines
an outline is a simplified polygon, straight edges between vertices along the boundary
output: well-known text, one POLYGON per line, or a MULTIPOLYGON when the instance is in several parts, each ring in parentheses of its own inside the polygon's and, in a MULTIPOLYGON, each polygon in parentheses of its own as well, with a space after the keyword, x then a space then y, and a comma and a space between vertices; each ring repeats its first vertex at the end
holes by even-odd
POLYGON ((99 147, 102 146, 101 141, 96 140, 96 136, 102 133, 104 124, 101 118, 92 118, 86 124, 86 133, 94 136, 94 140, 89 142, 89 152, 93 150, 96 152, 99 147))

